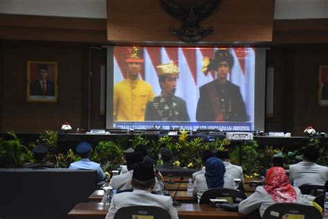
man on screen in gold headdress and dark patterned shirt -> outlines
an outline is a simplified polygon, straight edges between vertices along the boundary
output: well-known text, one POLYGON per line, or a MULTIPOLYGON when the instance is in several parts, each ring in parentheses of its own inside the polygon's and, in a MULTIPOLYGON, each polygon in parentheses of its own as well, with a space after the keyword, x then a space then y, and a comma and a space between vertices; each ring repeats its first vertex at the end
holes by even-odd
POLYGON ((145 121, 189 121, 185 101, 174 96, 179 69, 173 62, 156 67, 161 95, 146 106, 145 121))

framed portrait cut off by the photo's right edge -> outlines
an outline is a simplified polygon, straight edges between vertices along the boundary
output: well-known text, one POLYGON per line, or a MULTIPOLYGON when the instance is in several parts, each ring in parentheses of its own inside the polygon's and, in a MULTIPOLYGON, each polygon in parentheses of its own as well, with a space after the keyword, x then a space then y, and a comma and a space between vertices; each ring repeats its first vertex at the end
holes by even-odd
POLYGON ((318 103, 320 106, 328 106, 328 64, 320 65, 318 81, 318 103))

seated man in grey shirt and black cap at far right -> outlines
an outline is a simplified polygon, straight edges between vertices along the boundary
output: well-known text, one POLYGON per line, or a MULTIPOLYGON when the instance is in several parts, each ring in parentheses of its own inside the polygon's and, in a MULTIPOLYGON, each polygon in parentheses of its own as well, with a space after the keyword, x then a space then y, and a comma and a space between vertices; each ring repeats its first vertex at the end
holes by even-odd
POLYGON ((303 150, 303 161, 289 166, 289 180, 297 181, 297 186, 317 185, 324 186, 328 180, 327 166, 316 164, 320 157, 319 148, 307 146, 303 150))

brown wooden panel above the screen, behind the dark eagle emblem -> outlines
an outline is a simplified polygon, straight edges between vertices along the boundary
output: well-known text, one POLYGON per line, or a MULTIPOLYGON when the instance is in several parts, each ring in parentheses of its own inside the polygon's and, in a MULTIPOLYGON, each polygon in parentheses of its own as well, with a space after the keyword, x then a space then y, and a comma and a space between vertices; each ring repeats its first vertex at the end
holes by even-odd
MULTIPOLYGON (((223 0, 219 10, 201 28, 215 30, 201 44, 271 42, 273 33, 274 0, 223 0)), ((159 1, 107 0, 107 40, 122 43, 161 42, 178 44, 181 41, 170 33, 170 27, 181 23, 161 8, 159 1)))

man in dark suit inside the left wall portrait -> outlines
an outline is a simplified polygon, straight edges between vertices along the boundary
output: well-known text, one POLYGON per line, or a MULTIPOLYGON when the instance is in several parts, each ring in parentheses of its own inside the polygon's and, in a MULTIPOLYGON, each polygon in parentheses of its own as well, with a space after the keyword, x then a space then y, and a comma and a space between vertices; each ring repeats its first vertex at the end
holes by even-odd
POLYGON ((48 80, 48 66, 46 64, 39 64, 37 67, 37 80, 30 82, 31 96, 55 96, 55 84, 48 80))

